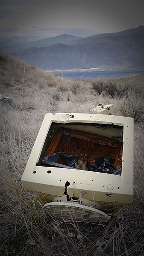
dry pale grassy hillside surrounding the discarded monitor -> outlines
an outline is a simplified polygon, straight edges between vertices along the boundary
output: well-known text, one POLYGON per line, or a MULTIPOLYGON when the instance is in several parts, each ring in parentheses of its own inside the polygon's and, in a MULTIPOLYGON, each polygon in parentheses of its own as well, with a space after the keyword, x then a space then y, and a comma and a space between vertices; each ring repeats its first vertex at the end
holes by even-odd
POLYGON ((0 94, 13 99, 10 106, 0 103, 1 256, 144 255, 143 86, 143 74, 107 81, 62 79, 0 53, 0 94), (25 191, 21 176, 45 113, 90 113, 98 103, 113 103, 116 115, 135 119, 133 203, 122 206, 108 224, 56 221, 35 194, 25 191))

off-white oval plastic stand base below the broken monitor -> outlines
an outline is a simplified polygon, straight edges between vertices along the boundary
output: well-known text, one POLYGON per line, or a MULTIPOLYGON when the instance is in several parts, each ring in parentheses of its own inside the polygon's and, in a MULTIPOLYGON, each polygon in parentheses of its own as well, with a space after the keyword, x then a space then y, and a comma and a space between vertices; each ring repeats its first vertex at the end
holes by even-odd
POLYGON ((58 219, 86 221, 86 222, 107 222, 110 216, 106 213, 94 209, 93 207, 80 205, 71 202, 52 202, 44 205, 44 210, 47 210, 51 215, 58 219))

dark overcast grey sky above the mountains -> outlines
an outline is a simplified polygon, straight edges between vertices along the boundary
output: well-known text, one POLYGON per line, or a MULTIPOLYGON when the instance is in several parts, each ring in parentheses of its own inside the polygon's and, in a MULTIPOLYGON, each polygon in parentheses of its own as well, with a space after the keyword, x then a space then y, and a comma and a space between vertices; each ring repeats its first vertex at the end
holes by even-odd
POLYGON ((144 0, 0 0, 0 36, 89 36, 144 26, 144 0))

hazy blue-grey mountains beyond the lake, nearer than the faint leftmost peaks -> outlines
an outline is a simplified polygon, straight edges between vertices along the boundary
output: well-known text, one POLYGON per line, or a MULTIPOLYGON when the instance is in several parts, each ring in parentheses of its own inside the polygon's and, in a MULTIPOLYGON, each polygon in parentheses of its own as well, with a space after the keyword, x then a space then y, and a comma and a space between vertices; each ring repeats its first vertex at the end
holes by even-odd
POLYGON ((42 69, 144 68, 144 26, 85 38, 64 34, 0 49, 42 69))

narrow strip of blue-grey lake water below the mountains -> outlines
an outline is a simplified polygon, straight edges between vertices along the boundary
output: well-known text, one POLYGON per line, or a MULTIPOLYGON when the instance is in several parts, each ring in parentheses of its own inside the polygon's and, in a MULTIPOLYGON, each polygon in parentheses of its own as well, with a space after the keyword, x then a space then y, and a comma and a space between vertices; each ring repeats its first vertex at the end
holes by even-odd
MULTIPOLYGON (((60 77, 62 77, 62 71, 54 71, 54 73, 59 74, 60 77)), ((132 76, 136 74, 144 73, 144 70, 137 70, 137 71, 115 71, 115 70, 109 70, 109 71, 69 71, 65 72, 63 71, 63 77, 67 78, 73 78, 73 79, 94 79, 97 77, 100 78, 109 78, 109 77, 127 77, 132 76)))

